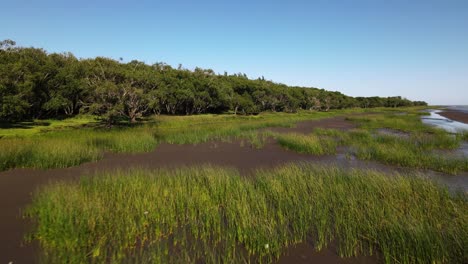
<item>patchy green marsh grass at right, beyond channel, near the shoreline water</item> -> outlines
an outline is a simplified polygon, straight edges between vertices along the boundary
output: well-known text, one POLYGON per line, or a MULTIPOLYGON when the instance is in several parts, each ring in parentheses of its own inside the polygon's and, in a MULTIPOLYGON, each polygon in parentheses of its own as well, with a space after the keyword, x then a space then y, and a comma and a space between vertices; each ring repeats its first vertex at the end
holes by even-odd
POLYGON ((466 134, 451 135, 426 126, 419 116, 420 113, 386 113, 348 117, 360 125, 359 129, 342 131, 318 128, 309 135, 280 135, 277 140, 281 146, 300 153, 334 154, 338 146, 347 146, 347 155, 362 160, 448 174, 468 171, 468 159, 444 155, 440 151, 457 149, 466 134), (394 135, 378 133, 380 128, 394 130, 394 135), (399 136, 398 133, 405 136, 399 136))

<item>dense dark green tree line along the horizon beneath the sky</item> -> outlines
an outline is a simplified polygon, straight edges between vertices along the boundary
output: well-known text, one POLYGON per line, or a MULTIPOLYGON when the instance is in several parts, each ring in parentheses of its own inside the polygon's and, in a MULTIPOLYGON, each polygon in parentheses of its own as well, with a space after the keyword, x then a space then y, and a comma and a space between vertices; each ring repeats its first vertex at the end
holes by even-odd
POLYGON ((77 59, 71 53, 0 42, 0 121, 61 118, 92 113, 112 124, 145 115, 256 114, 262 111, 328 111, 350 107, 427 105, 394 97, 350 97, 292 87, 245 74, 191 71, 181 65, 148 65, 109 58, 77 59))

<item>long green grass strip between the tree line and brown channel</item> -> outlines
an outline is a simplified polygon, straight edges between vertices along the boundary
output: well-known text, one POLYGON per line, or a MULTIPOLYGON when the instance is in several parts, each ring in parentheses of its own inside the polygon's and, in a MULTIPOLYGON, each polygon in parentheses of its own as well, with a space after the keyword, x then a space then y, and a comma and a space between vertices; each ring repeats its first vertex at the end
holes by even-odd
MULTIPOLYGON (((240 139, 254 148, 260 148, 266 140, 264 133, 257 133, 256 130, 260 128, 291 127, 303 120, 358 111, 360 110, 295 114, 263 113, 257 116, 155 116, 139 126, 116 126, 112 129, 82 127, 86 122, 93 120, 89 116, 84 116, 68 121, 50 121, 52 125, 47 130, 43 130, 39 125, 23 128, 29 132, 16 137, 12 135, 18 132, 19 128, 1 129, 0 134, 10 136, 0 138, 0 171, 25 167, 47 169, 75 166, 87 161, 96 161, 106 151, 126 153, 151 151, 160 142, 197 144, 211 140, 240 139)), ((26 126, 26 124, 19 125, 26 126)))

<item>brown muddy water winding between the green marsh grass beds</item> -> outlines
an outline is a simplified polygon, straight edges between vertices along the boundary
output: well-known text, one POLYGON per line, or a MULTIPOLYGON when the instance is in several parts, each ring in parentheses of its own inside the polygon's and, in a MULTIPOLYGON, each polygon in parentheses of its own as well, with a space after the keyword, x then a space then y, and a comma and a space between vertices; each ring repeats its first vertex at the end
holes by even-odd
MULTIPOLYGON (((353 124, 344 118, 331 118, 318 121, 301 122, 295 128, 272 128, 276 132, 310 133, 314 128, 349 129, 353 124)), ((41 185, 57 180, 74 181, 83 174, 93 174, 102 171, 126 170, 131 168, 174 168, 180 166, 211 164, 238 169, 243 175, 251 175, 257 169, 273 168, 290 162, 308 162, 318 165, 335 164, 345 168, 370 168, 384 172, 403 171, 375 162, 362 162, 356 159, 338 156, 312 156, 287 151, 278 146, 273 139, 267 140, 261 149, 254 149, 241 142, 207 142, 197 145, 161 144, 154 151, 138 154, 107 153, 98 162, 85 163, 66 169, 14 169, 0 172, 0 208, 2 208, 0 225, 0 263, 36 263, 38 261, 38 246, 24 244, 23 237, 30 228, 24 220, 22 209, 31 202, 32 193, 41 185)), ((430 174, 428 174, 430 175, 430 174)), ((437 174, 436 174, 437 175, 437 174)), ((437 176, 439 177, 439 176, 437 176)), ((437 178, 436 177, 436 178, 437 178)), ((445 176, 439 177, 442 181, 445 176)), ((450 181, 450 178, 448 181, 450 181)), ((467 182, 464 176, 454 176, 452 180, 467 182), (461 178, 460 178, 461 177, 461 178), (460 180, 461 179, 461 180, 460 180)), ((466 178, 465 178, 466 179, 466 178)), ((331 250, 315 252, 312 247, 301 246, 288 249, 281 263, 297 263, 299 256, 305 256, 306 262, 318 263, 369 263, 361 258, 338 258, 331 250), (308 249, 306 249, 306 248, 308 249), (296 250, 296 251, 295 251, 296 250), (289 252, 289 253, 288 253, 289 252), (297 253, 294 253, 297 252, 297 253), (290 260, 290 261, 288 261, 290 260), (361 261, 362 260, 362 261, 361 261), (351 262, 350 262, 351 261, 351 262)), ((302 258, 302 257, 301 257, 302 258)), ((373 259, 373 258, 370 258, 373 259)), ((377 261, 371 261, 375 263, 377 261)))

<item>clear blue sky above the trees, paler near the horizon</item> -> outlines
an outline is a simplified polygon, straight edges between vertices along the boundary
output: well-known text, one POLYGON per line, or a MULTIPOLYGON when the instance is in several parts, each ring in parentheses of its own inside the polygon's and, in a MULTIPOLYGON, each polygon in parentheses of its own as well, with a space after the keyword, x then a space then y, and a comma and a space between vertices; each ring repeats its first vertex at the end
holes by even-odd
POLYGON ((0 0, 0 40, 468 105, 468 1, 0 0))

